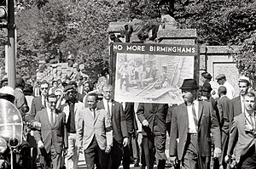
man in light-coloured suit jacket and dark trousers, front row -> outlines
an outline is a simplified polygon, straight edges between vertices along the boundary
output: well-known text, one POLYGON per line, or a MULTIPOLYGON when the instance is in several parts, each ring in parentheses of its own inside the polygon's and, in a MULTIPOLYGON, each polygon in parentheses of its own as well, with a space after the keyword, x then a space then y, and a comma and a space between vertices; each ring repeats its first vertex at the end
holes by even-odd
POLYGON ((96 109, 97 98, 96 93, 88 95, 88 107, 79 117, 79 146, 83 146, 87 169, 94 169, 95 164, 108 169, 113 131, 108 112, 96 109))

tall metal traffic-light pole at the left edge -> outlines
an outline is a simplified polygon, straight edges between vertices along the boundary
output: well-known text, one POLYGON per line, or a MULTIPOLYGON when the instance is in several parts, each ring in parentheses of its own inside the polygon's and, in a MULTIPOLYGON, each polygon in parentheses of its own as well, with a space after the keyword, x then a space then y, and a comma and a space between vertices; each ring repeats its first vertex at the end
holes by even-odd
POLYGON ((14 0, 8 2, 8 85, 15 88, 16 80, 16 60, 15 60, 15 3, 14 0))

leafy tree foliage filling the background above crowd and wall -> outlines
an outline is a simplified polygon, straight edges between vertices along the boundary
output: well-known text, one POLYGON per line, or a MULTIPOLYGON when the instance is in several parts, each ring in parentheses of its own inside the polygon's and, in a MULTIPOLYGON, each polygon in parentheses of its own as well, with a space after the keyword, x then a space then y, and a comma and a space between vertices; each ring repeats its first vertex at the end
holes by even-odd
MULTIPOLYGON (((234 54, 238 69, 252 60, 253 69, 256 2, 253 0, 18 0, 17 72, 34 75, 38 60, 51 59, 60 49, 63 56, 71 51, 79 64, 101 70, 108 61, 108 24, 125 20, 131 14, 152 25, 159 22, 160 4, 168 3, 180 28, 195 28, 198 44, 243 45, 241 54, 234 54)), ((0 35, 0 60, 4 59, 4 31, 0 35)), ((252 72, 247 69, 249 74, 252 72)))

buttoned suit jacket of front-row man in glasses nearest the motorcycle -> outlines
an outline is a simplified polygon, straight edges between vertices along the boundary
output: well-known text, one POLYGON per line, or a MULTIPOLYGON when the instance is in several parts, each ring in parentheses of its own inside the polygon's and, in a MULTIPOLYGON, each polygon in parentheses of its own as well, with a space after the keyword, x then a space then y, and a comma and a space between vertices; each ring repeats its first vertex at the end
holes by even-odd
POLYGON ((41 130, 34 132, 34 138, 37 143, 42 140, 47 153, 49 153, 50 146, 54 144, 55 151, 61 154, 62 149, 67 148, 66 115, 61 110, 55 110, 55 113, 55 125, 52 126, 49 122, 47 110, 38 111, 35 120, 41 123, 41 130))

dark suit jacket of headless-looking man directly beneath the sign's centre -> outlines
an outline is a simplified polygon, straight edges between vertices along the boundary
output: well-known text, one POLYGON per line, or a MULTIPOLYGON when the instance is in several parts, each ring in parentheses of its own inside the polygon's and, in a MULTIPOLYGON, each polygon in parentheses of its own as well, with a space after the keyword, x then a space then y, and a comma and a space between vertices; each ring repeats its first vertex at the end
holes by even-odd
POLYGON ((168 104, 155 104, 156 108, 153 108, 153 104, 140 103, 137 108, 137 118, 141 123, 144 120, 148 121, 148 127, 143 127, 143 135, 160 132, 160 134, 166 134, 166 116, 168 113, 168 104), (160 131, 154 131, 154 125, 157 125, 160 131))

